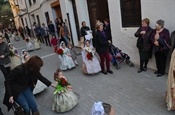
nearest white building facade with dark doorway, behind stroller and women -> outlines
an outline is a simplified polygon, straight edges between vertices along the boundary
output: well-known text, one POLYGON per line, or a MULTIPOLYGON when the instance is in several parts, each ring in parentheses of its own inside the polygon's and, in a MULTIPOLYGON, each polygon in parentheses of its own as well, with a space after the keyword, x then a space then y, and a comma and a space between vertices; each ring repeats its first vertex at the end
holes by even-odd
MULTIPOLYGON (((134 33, 143 18, 150 19, 152 28, 155 28, 157 20, 163 19, 170 33, 175 29, 174 0, 60 0, 60 5, 63 19, 67 20, 69 15, 75 42, 78 41, 82 21, 95 31, 96 19, 103 21, 109 18, 113 44, 127 53, 135 64, 139 64, 139 54, 134 33)), ((154 56, 148 66, 156 68, 154 56)))

